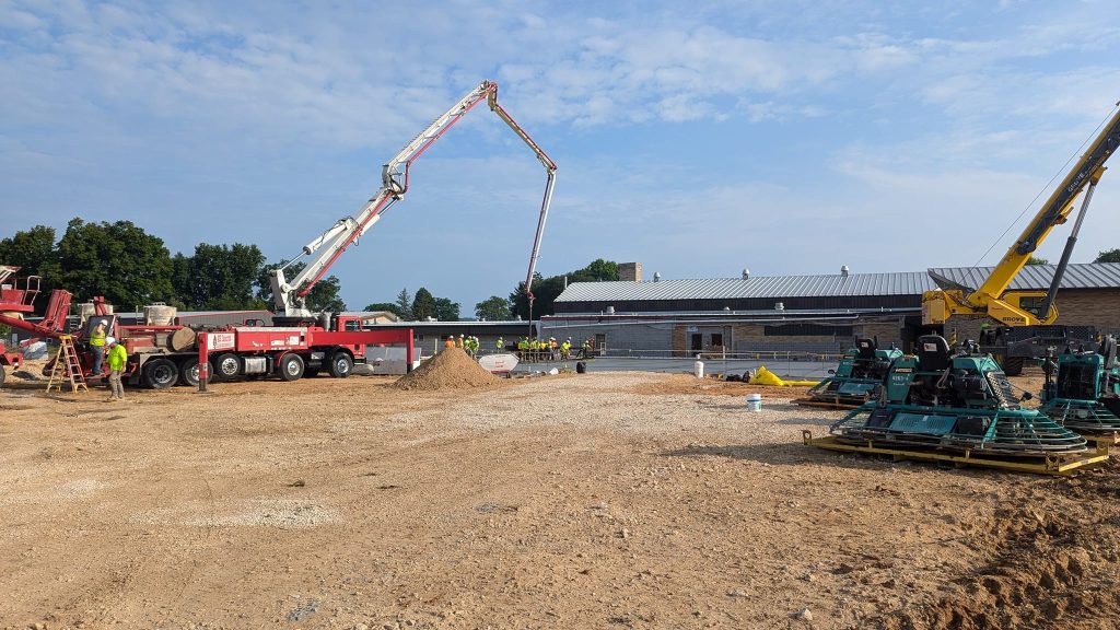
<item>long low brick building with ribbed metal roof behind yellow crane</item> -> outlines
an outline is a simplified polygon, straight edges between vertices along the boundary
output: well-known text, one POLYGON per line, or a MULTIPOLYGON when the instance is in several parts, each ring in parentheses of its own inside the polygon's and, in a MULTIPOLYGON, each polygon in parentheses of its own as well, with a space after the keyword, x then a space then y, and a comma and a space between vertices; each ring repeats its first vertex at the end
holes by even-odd
MULTIPOLYGON (((631 268, 638 268, 629 263, 631 268)), ((1045 290, 1052 265, 1028 266, 1011 289, 1045 290)), ((931 269, 976 288, 991 268, 931 269)), ((932 330, 922 324, 922 294, 937 285, 927 271, 818 276, 750 276, 573 282, 541 317, 548 335, 594 339, 608 351, 734 353, 840 352, 856 337, 902 348, 932 330)), ((1120 328, 1120 263, 1071 265, 1058 294, 1060 324, 1120 328)), ((962 334, 979 321, 953 323, 962 334)), ((948 333, 948 328, 944 331, 948 333)))

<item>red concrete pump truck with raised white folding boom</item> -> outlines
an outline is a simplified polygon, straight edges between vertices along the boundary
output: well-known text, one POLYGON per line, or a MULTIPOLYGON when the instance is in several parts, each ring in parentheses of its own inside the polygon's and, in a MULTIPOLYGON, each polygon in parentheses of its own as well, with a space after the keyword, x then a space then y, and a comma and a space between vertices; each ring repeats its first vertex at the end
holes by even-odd
MULTIPOLYGON (((531 284, 552 200, 557 166, 498 104, 497 83, 484 81, 432 121, 384 165, 381 188, 357 214, 340 219, 304 247, 302 253, 296 260, 304 256, 311 258, 300 274, 289 280, 283 274, 287 266, 271 271, 270 284, 276 306, 272 325, 245 323, 197 331, 179 324, 157 325, 152 322, 124 325, 118 322, 104 300, 94 298, 93 317, 73 335, 85 376, 102 376, 92 373, 92 352, 85 343, 93 323, 100 321, 105 322, 109 333, 120 340, 129 353, 127 382, 156 389, 170 387, 176 382, 204 388, 212 376, 216 380, 276 376, 292 381, 305 376, 318 374, 321 370, 332 377, 345 378, 349 376, 355 363, 364 361, 365 348, 371 344, 404 345, 405 364, 411 367, 413 354, 411 330, 376 330, 376 327, 370 330, 363 326, 358 315, 314 313, 308 308, 307 296, 343 251, 357 242, 358 238, 381 219, 385 210, 403 198, 409 188, 409 169, 412 163, 464 114, 484 100, 489 109, 533 150, 547 173, 544 198, 541 202, 536 233, 529 258, 529 271, 525 276, 525 291, 532 300, 531 284)), ((37 336, 57 339, 64 334, 71 295, 56 289, 52 295, 48 314, 40 323, 30 323, 22 318, 22 313, 30 309, 32 299, 31 291, 6 291, 0 296, 0 323, 26 330, 37 336)))

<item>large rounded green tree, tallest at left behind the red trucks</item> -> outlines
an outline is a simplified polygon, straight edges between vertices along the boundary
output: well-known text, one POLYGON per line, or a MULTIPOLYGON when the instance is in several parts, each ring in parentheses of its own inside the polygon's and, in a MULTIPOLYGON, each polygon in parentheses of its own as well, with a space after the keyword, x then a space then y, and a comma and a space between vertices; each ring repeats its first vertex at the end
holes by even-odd
POLYGON ((72 219, 58 241, 60 285, 78 302, 104 296, 132 308, 175 297, 171 254, 164 240, 131 221, 86 223, 72 219))

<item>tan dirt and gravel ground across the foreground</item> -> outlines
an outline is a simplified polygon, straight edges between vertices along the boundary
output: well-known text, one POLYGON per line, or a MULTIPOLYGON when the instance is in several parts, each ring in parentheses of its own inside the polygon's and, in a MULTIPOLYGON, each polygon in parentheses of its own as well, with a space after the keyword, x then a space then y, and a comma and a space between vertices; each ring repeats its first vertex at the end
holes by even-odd
POLYGON ((839 413, 684 374, 393 381, 105 402, 9 376, 0 628, 1120 619, 1116 465, 1060 479, 840 455, 801 444, 839 413))

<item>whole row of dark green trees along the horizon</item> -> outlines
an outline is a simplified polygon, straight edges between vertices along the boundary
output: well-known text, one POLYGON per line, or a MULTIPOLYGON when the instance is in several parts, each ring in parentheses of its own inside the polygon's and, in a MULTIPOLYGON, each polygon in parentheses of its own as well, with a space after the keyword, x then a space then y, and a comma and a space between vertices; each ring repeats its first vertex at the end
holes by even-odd
MULTIPOLYGON (((244 243, 198 243, 190 254, 172 256, 162 239, 131 221, 93 223, 75 217, 62 238, 54 228, 36 225, 0 240, 0 263, 20 267, 20 275, 41 276, 43 293, 35 305, 41 313, 54 288, 65 288, 78 303, 104 296, 122 308, 157 302, 184 311, 271 308, 269 271, 288 261, 268 265, 260 248, 244 243)), ((292 278, 302 269, 302 262, 295 262, 284 275, 292 278)), ((566 281, 617 279, 618 265, 603 259, 549 278, 536 274, 532 316, 552 314, 552 303, 566 281)), ((311 288, 308 306, 316 312, 346 311, 340 290, 338 278, 327 276, 311 288)), ((395 302, 372 303, 365 311, 388 311, 410 321, 431 317, 449 322, 460 318, 459 308, 458 303, 421 287, 414 295, 401 289, 395 302)), ((524 282, 519 282, 508 297, 494 295, 475 304, 475 316, 487 321, 528 319, 524 282)))

